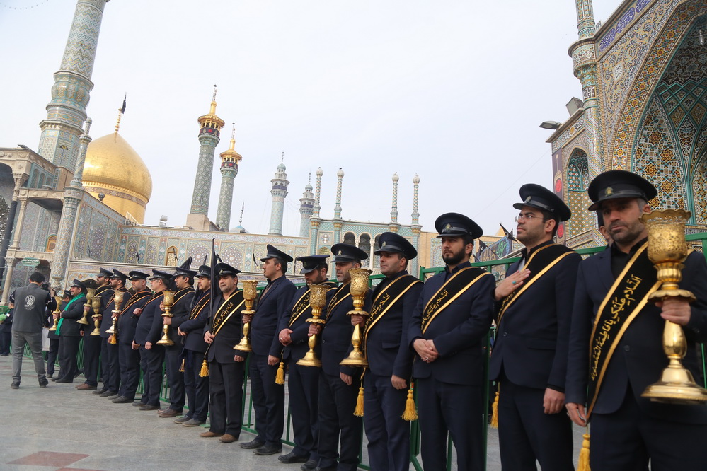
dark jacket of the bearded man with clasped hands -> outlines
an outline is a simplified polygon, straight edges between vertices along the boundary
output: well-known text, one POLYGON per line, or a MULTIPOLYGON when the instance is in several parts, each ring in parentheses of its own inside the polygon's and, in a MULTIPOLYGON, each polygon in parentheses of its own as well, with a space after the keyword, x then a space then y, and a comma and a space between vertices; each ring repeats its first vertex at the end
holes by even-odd
POLYGON ((447 275, 452 277, 459 269, 469 266, 469 262, 459 264, 451 273, 445 268, 425 282, 410 319, 408 339, 410 349, 413 349, 416 339, 432 340, 439 357, 432 363, 425 363, 416 357, 413 365, 415 378, 432 377, 444 383, 464 385, 483 383, 483 345, 494 313, 493 291, 496 284, 492 274, 484 274, 461 293, 430 322, 425 333, 422 332, 423 310, 427 302, 442 287, 447 275))

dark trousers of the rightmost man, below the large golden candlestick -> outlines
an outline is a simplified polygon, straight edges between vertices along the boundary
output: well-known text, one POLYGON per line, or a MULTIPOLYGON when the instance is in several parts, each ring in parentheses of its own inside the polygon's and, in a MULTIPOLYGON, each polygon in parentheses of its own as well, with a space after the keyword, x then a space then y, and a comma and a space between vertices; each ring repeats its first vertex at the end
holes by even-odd
MULTIPOLYGON (((672 407, 681 407, 674 405, 672 407)), ((707 463, 707 425, 642 413, 631 388, 618 411, 592 414, 590 465, 602 471, 698 471, 707 463)))

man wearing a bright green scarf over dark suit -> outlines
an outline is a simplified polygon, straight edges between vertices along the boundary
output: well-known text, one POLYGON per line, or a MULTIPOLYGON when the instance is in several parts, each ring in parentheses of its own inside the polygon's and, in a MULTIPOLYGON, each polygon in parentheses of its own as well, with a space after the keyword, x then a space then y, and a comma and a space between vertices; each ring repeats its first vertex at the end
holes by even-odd
POLYGON ((86 303, 86 286, 81 281, 74 279, 69 286, 71 301, 67 303, 62 313, 54 314, 59 318, 57 335, 59 335, 59 373, 61 377, 52 378, 57 383, 74 383, 76 375, 76 355, 79 354, 81 343, 81 324, 79 319, 84 317, 84 303, 86 303))

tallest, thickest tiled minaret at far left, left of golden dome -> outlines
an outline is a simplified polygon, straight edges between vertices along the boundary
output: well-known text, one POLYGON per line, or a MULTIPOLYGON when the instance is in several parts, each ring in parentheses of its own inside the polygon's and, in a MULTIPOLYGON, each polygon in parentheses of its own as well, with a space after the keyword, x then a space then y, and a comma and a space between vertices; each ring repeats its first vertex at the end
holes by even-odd
POLYGON ((54 74, 47 118, 40 122, 38 153, 48 161, 74 170, 79 158, 86 105, 93 89, 91 74, 103 8, 107 0, 79 0, 64 48, 59 71, 54 74))

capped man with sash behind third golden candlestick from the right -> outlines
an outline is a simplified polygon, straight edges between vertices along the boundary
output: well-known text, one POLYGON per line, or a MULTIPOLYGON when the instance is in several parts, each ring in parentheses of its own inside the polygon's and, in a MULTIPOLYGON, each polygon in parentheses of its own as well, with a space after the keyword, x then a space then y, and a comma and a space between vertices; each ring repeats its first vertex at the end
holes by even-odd
MULTIPOLYGON (((294 259, 302 262, 300 274, 304 274, 306 286, 294 293, 292 303, 280 317, 280 332, 278 338, 284 347, 282 361, 287 364, 289 388, 289 403, 292 405, 292 429, 294 431, 294 449, 277 457, 280 463, 304 463, 302 469, 314 470, 319 460, 317 443, 319 440, 318 424, 318 387, 319 369, 311 366, 301 366, 297 361, 304 358, 309 351, 309 322, 312 309, 309 303, 309 287, 313 284, 328 286, 327 300, 336 291, 336 284, 327 281, 328 267, 326 259, 329 255, 309 255, 294 259)), ((321 344, 316 346, 316 354, 321 358, 321 344)))

